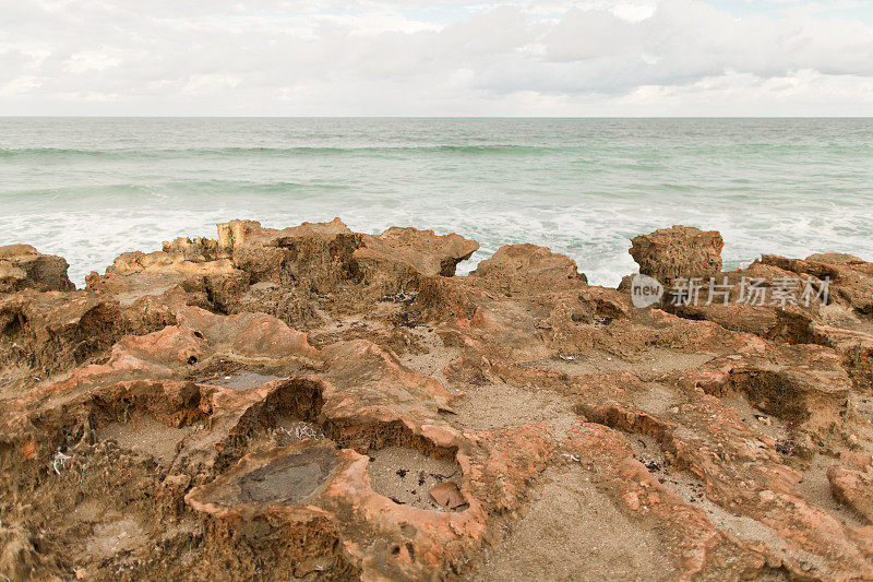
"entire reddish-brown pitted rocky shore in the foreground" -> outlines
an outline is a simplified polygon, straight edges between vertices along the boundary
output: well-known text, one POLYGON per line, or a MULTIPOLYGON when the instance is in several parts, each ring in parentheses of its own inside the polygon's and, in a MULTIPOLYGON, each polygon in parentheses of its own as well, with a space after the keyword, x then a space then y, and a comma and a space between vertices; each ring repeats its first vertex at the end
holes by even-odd
POLYGON ((719 299, 638 309, 477 248, 234 221, 85 289, 0 249, 0 574, 873 578, 873 264, 674 227, 641 271, 719 299))

